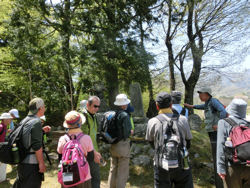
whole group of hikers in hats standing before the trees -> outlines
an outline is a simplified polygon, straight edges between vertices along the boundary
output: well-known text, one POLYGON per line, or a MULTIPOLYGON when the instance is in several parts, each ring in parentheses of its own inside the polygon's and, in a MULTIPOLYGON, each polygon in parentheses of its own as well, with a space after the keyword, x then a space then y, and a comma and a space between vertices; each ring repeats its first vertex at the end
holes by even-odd
MULTIPOLYGON (((216 188, 250 187, 250 152, 247 153, 250 150, 250 124, 245 119, 247 103, 243 99, 234 98, 225 108, 218 99, 213 98, 210 88, 203 87, 198 90, 198 94, 204 104, 184 103, 185 107, 182 107, 182 93, 179 91, 160 92, 155 99, 158 115, 148 121, 145 136, 145 140, 154 149, 154 187, 194 187, 188 155, 192 133, 187 108, 205 112, 216 188), (245 137, 241 138, 243 134, 238 134, 237 139, 242 141, 243 149, 234 141, 235 134, 238 133, 236 131, 243 130, 242 127, 245 137), (249 137, 246 138, 248 134, 249 137)), ((133 107, 130 102, 127 95, 117 95, 114 102, 116 109, 113 114, 105 113, 108 116, 103 118, 105 121, 101 124, 105 125, 101 125, 101 129, 97 121, 101 101, 97 96, 81 101, 80 110, 70 111, 65 115, 65 134, 59 138, 57 146, 60 161, 58 181, 62 187, 100 188, 100 165, 105 161, 98 150, 98 141, 105 139, 105 142, 111 144, 108 187, 126 187, 129 177, 130 136, 134 132, 131 117, 133 107)), ((45 121, 44 113, 43 99, 34 98, 29 103, 28 115, 18 125, 23 125, 22 134, 25 136, 21 141, 29 149, 29 154, 18 163, 14 188, 39 188, 44 180, 46 166, 43 135, 51 130, 50 126, 42 126, 42 121, 45 121)), ((0 142, 4 142, 6 134, 13 130, 9 127, 13 118, 19 118, 16 109, 0 116, 0 142)), ((1 162, 0 178, 0 182, 6 179, 6 164, 1 162)))

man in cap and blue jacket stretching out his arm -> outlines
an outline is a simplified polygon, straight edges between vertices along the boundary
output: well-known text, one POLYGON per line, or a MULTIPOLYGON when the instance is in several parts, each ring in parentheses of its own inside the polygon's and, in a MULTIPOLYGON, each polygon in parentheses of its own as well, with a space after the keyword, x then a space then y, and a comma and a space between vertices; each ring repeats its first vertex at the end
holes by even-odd
POLYGON ((190 105, 184 104, 188 108, 194 108, 198 110, 204 110, 205 113, 205 125, 206 131, 210 139, 212 148, 213 164, 214 164, 214 175, 216 188, 222 188, 223 183, 216 173, 216 144, 217 144, 217 127, 220 119, 227 117, 227 112, 223 104, 216 98, 212 97, 212 90, 209 87, 202 87, 198 91, 199 98, 205 104, 201 105, 190 105))

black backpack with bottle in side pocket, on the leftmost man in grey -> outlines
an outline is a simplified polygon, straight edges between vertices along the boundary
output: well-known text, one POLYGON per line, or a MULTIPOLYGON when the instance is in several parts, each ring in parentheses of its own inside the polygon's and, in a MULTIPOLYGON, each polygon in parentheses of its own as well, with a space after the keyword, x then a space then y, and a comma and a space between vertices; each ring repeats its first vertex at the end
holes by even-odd
POLYGON ((30 120, 30 118, 27 118, 21 122, 9 134, 6 142, 0 142, 0 162, 5 164, 19 164, 28 154, 32 153, 30 152, 31 146, 26 148, 22 142, 23 127, 30 120))

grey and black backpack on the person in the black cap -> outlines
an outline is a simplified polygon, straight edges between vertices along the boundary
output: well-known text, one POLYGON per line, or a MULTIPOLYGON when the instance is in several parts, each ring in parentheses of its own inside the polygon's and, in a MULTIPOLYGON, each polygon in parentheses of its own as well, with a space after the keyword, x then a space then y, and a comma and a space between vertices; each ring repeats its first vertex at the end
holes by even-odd
POLYGON ((156 165, 167 171, 178 167, 183 168, 184 145, 183 136, 177 124, 179 116, 173 114, 170 119, 164 114, 159 114, 156 118, 161 122, 155 137, 156 165))

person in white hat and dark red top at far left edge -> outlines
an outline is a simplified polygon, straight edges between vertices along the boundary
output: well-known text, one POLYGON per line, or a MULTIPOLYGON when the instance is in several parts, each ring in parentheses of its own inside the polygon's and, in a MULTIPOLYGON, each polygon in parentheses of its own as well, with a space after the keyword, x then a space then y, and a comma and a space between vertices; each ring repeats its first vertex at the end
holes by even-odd
MULTIPOLYGON (((7 126, 10 124, 12 117, 9 113, 2 113, 0 116, 0 142, 5 141, 5 136, 7 133, 7 126)), ((0 162, 0 182, 6 179, 6 164, 0 162)))

